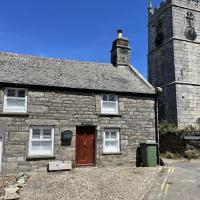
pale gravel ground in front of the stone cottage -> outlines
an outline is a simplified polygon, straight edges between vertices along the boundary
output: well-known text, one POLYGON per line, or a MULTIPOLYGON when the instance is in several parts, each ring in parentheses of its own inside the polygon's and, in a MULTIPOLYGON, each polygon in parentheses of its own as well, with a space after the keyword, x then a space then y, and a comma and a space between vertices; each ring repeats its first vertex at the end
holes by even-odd
POLYGON ((22 200, 137 200, 146 194, 161 168, 77 168, 34 173, 22 200))

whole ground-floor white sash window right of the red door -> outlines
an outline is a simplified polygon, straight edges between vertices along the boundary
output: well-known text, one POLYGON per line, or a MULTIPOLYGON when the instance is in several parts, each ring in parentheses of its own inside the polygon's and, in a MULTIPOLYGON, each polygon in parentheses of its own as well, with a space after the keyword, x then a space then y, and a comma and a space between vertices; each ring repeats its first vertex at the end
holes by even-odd
POLYGON ((103 153, 119 153, 120 141, 118 129, 105 129, 103 153))

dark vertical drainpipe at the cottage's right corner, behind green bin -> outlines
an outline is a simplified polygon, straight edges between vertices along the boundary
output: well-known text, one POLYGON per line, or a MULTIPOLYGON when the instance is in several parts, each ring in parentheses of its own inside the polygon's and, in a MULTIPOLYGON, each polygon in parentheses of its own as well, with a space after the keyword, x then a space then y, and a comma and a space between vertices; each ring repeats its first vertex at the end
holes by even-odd
POLYGON ((156 143, 157 143, 157 164, 160 165, 160 138, 158 129, 158 96, 162 93, 162 88, 156 87, 155 97, 155 129, 156 129, 156 143))

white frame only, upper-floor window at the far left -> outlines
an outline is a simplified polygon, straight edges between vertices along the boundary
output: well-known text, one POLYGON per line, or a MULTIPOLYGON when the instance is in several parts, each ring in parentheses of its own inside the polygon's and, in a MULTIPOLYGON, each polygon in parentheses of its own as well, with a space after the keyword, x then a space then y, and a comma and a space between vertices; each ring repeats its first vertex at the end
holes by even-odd
POLYGON ((4 103, 3 103, 3 112, 12 112, 12 113, 26 113, 27 112, 27 89, 25 88, 5 88, 5 91, 4 91, 4 103), (15 90, 15 93, 16 91, 19 91, 19 90, 24 90, 25 91, 25 97, 8 97, 8 90, 11 89, 11 90, 15 90), (12 99, 24 99, 25 101, 25 107, 24 107, 24 110, 21 110, 21 109, 11 109, 7 106, 7 99, 8 98, 12 98, 12 99))

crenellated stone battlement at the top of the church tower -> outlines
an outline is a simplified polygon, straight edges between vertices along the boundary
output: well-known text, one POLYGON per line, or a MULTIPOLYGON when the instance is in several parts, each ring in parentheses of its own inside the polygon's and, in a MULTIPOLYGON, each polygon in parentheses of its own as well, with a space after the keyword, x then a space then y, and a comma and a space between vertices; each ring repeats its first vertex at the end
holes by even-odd
POLYGON ((187 9, 200 11, 200 0, 161 0, 160 4, 156 7, 153 7, 152 0, 149 0, 149 20, 154 20, 171 5, 186 7, 187 9))

